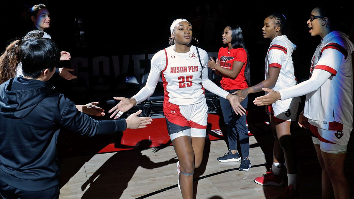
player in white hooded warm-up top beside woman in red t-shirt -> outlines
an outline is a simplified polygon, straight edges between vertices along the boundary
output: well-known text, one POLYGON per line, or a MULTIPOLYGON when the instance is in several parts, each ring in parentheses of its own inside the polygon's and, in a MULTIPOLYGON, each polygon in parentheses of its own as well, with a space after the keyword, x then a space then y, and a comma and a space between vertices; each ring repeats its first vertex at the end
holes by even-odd
MULTIPOLYGON (((296 46, 284 35, 286 18, 281 14, 269 15, 264 19, 263 37, 270 39, 270 46, 265 57, 265 80, 256 86, 238 91, 244 97, 249 93, 262 91, 263 87, 280 90, 295 86, 296 78, 292 53, 296 46)), ((273 103, 267 107, 270 123, 275 137, 273 147, 272 170, 254 181, 261 185, 281 186, 284 181, 280 175, 281 166, 286 163, 288 186, 280 198, 299 197, 296 191, 297 168, 295 149, 291 140, 290 125, 297 117, 299 98, 273 103)))

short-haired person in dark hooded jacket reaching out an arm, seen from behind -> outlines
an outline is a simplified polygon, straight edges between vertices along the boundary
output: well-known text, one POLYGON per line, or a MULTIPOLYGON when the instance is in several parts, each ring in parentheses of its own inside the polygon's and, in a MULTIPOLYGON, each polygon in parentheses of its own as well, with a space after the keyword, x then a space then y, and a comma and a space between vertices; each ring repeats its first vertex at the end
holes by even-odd
POLYGON ((24 40, 20 49, 23 77, 0 85, 0 183, 2 198, 58 198, 57 137, 62 127, 95 136, 126 128, 144 128, 149 117, 96 121, 76 109, 46 82, 60 52, 47 38, 24 40))

